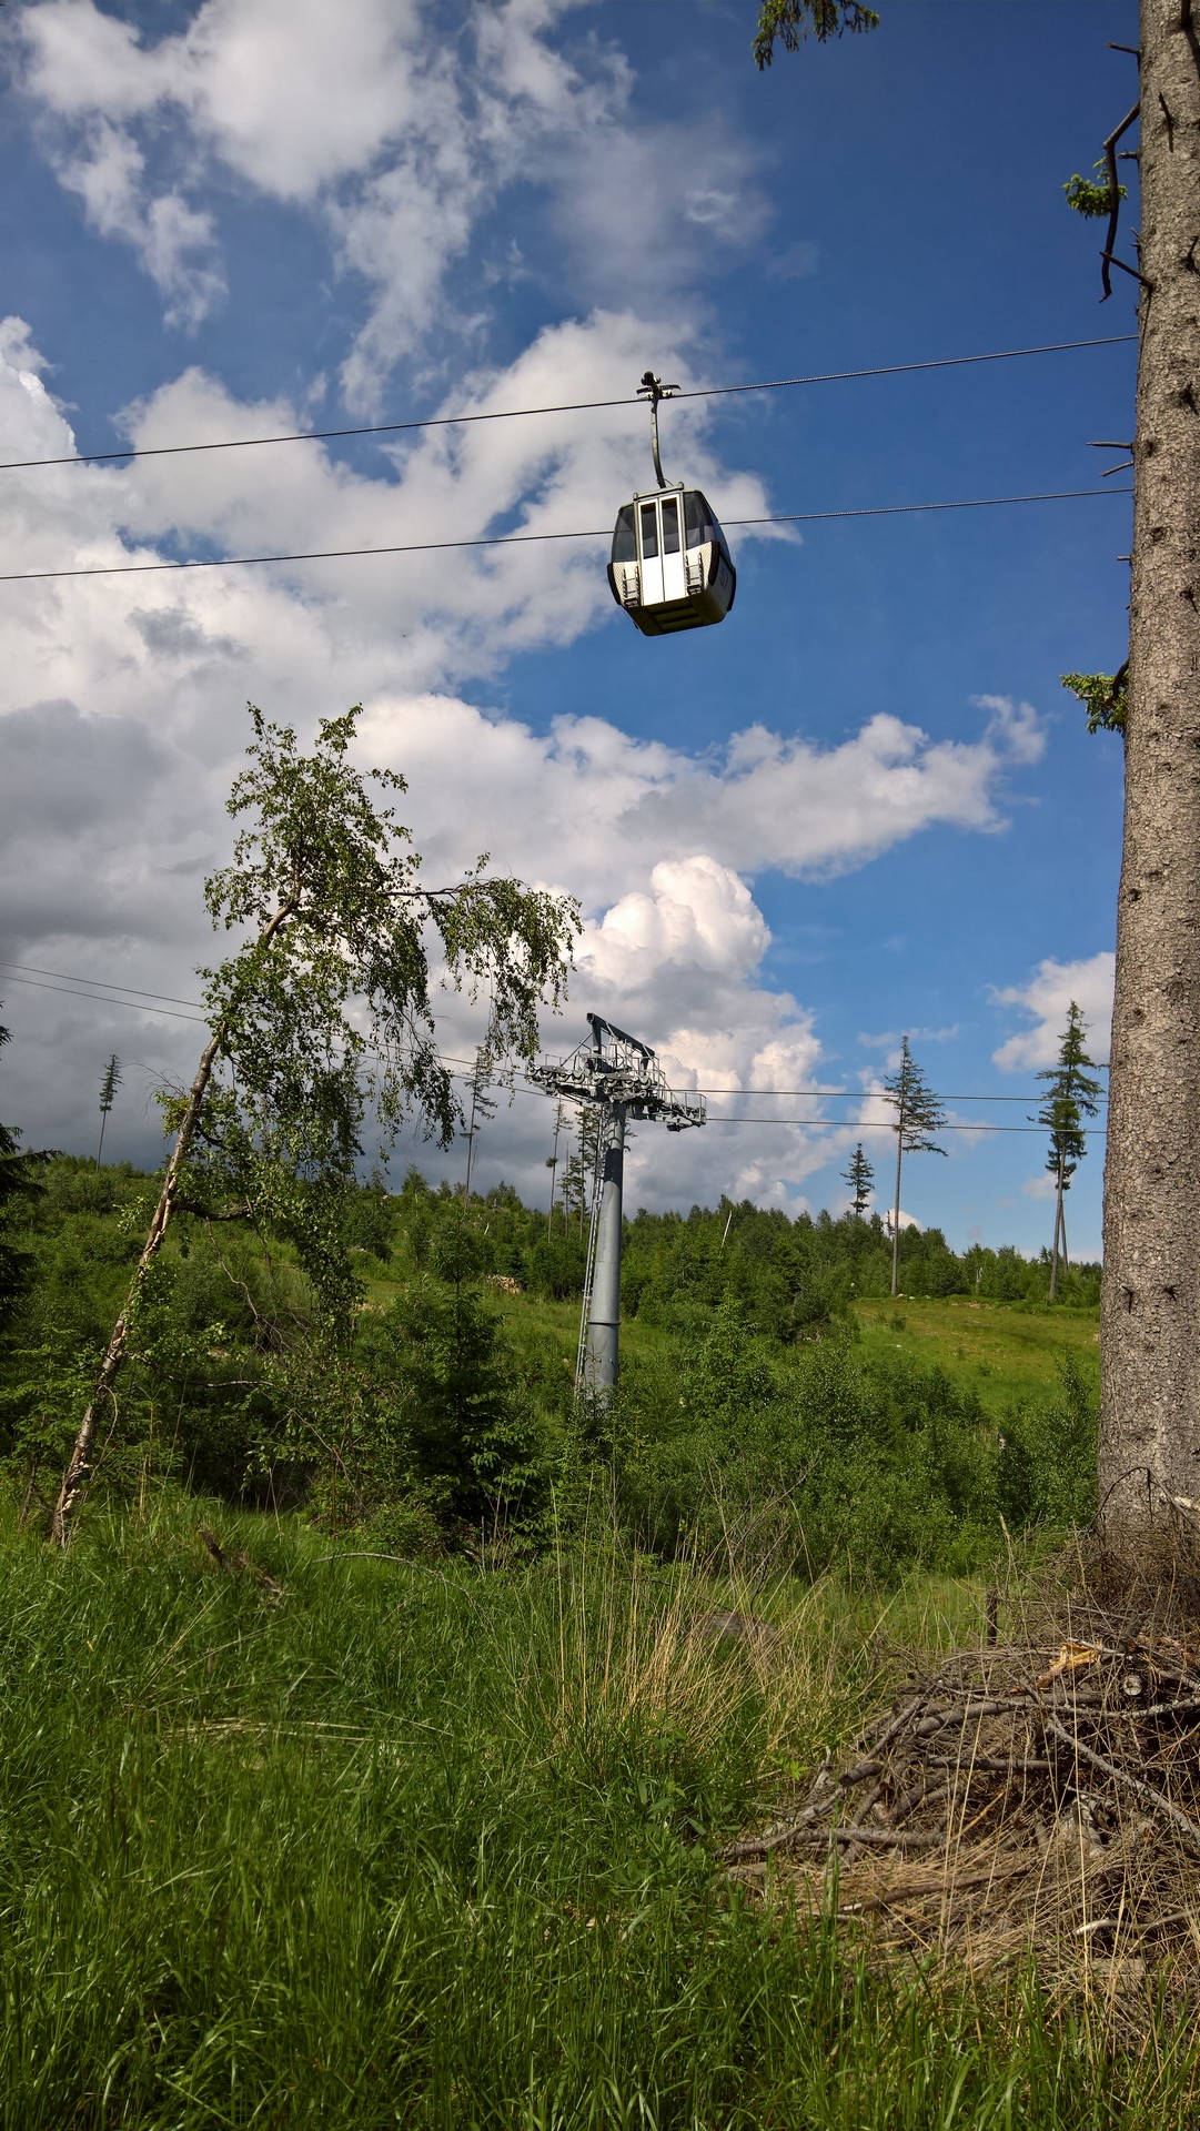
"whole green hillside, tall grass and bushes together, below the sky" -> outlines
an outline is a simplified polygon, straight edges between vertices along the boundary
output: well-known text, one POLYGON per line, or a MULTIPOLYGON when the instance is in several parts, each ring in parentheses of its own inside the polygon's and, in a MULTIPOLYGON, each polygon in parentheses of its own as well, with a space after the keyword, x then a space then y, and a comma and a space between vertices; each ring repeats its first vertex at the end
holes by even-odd
POLYGON ((1049 1308, 906 1232, 893 1304, 878 1223, 639 1215, 593 1411, 578 1230, 514 1193, 354 1195, 337 1336, 183 1219, 62 1556, 145 1198, 60 1157, 15 1232, 0 2131, 1196 2120, 1166 2012, 867 1958, 720 1862, 1089 1515, 1087 1270, 1049 1308))

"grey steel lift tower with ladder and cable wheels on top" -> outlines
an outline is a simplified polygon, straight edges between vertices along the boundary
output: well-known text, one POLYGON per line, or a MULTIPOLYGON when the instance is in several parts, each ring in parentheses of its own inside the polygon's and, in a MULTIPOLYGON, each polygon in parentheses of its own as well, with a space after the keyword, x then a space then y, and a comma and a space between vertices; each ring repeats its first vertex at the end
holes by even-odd
POLYGON ((575 1392, 607 1398, 618 1372, 625 1121, 661 1121, 667 1132, 684 1132, 703 1125, 708 1110, 703 1095, 667 1087, 659 1059, 637 1036, 599 1014, 588 1014, 588 1027, 590 1044, 580 1044, 558 1066, 535 1066, 529 1078, 548 1095, 590 1104, 599 1112, 575 1392))

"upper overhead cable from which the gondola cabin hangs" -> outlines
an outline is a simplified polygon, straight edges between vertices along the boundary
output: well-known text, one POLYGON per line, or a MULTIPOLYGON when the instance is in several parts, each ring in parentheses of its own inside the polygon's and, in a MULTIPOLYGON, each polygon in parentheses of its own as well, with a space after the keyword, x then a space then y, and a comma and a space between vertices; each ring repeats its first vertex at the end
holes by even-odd
MULTIPOLYGON (((797 386, 848 384, 855 377, 904 377, 914 371, 955 371, 972 362, 1015 362, 1019 356, 1059 356, 1076 347, 1121 347, 1136 341, 1136 332, 1108 332, 1093 341, 1044 341, 1038 347, 998 347, 978 356, 934 356, 925 362, 876 362, 857 371, 814 371, 808 377, 763 377, 744 386, 688 386, 671 392, 669 398, 729 398, 742 392, 789 392, 797 386)), ((396 437, 418 428, 463 428, 475 422, 522 422, 546 413, 590 413, 603 407, 639 407, 635 394, 599 401, 556 401, 548 407, 488 407, 475 413, 431 413, 407 422, 360 422, 354 428, 294 428, 271 437, 215 437, 202 443, 147 443, 126 445, 117 452, 68 452, 60 458, 4 458, 0 473, 26 473, 32 467, 98 467, 107 460, 130 458, 175 458, 185 452, 243 452, 266 443, 333 443, 341 437, 396 437)))

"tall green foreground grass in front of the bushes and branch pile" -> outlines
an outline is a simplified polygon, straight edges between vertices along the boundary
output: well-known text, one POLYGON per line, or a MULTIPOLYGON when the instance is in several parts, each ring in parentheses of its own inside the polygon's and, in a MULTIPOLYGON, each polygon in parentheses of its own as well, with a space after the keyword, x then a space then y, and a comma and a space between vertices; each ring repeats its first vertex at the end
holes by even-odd
POLYGON ((780 1588, 755 1656, 599 1532, 480 1575, 209 1504, 271 1603, 202 1515, 0 1534, 4 2131, 1194 2120, 1170 2037, 872 1978, 714 1865, 978 1590, 780 1588))

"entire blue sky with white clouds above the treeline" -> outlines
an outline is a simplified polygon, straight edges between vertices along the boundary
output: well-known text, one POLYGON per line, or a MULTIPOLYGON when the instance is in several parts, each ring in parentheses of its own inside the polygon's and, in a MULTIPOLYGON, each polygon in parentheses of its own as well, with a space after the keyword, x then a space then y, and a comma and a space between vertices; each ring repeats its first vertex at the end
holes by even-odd
MULTIPOLYGON (((0 456, 793 377, 1132 332, 1061 183, 1132 96, 1132 0, 885 0, 750 62, 752 0, 28 0, 4 21, 0 456)), ((1093 488, 1134 349, 686 401, 669 477, 729 518, 1093 488)), ((4 571, 610 524, 639 409, 4 475, 4 571)), ((1117 477, 1117 484, 1121 477, 1117 477)), ((1115 486, 1117 486, 1115 484, 1115 486)), ((642 639, 603 541, 4 584, 4 1119, 153 1159, 194 1029, 21 985, 194 995, 247 697, 367 705, 431 865, 580 897, 588 1006, 712 1112, 631 1198, 840 1208, 904 1029, 957 1123, 1019 1123, 1068 997, 1104 1055, 1119 744, 1059 688, 1123 656, 1128 497, 733 533, 720 627, 642 639), (789 1089, 842 1089, 793 1102, 789 1089), (993 1102, 968 1102, 991 1095, 993 1102), (1004 1100, 1000 1100, 1004 1097, 1004 1100)), ((477 1036, 448 1002, 445 1046, 477 1036)), ((546 1189, 518 1095, 480 1183, 546 1189)), ((1038 1249, 1040 1138, 953 1132, 906 1213, 1038 1249)), ((403 1155, 407 1159, 407 1151, 403 1155)), ((433 1172, 445 1168, 422 1155, 433 1172)), ((456 1164, 452 1161, 450 1168, 456 1164)), ((1098 1253, 1100 1144, 1072 1191, 1098 1253)))

